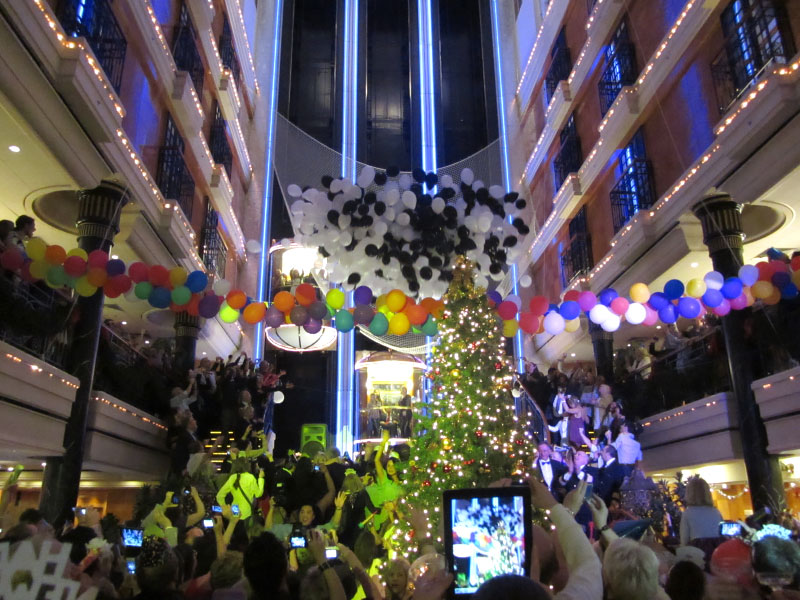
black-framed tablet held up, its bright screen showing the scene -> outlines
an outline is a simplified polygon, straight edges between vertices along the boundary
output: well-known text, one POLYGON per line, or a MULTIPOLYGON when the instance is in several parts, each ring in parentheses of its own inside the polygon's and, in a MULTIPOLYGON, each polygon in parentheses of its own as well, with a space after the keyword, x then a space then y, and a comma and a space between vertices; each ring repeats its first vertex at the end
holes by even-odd
POLYGON ((443 504, 452 597, 466 598, 498 575, 530 575, 530 488, 449 490, 443 504))

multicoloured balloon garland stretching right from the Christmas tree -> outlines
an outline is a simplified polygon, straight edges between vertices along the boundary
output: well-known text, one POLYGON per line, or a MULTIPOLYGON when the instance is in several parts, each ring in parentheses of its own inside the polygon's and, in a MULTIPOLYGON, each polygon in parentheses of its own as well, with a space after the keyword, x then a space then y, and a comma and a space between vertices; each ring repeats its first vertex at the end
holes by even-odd
POLYGON ((798 288, 800 257, 795 257, 790 263, 770 260, 743 265, 737 277, 725 278, 718 271, 709 271, 702 279, 690 279, 686 284, 671 279, 660 292, 634 283, 627 298, 613 288, 599 294, 570 290, 560 304, 534 296, 524 312, 518 296, 503 299, 498 292, 490 291, 487 297, 503 319, 503 334, 513 337, 518 329, 531 335, 577 331, 581 312, 609 332, 619 329, 623 319, 632 325, 655 325, 658 321, 675 323, 679 317, 694 319, 706 312, 722 317, 757 301, 769 306, 781 299, 797 298, 798 288))

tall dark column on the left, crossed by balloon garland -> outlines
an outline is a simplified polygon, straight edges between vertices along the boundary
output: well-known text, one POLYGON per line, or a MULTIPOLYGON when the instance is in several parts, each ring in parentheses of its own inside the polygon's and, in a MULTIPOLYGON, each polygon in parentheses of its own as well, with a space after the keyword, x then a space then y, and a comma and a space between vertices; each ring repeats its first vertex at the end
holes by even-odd
MULTIPOLYGON (((114 236, 119 233, 122 207, 128 202, 127 191, 117 183, 103 181, 91 190, 78 192, 78 246, 87 253, 92 250, 108 252, 114 236)), ((80 381, 75 392, 69 420, 64 430, 64 454, 48 459, 42 483, 40 509, 48 521, 59 530, 71 518, 71 509, 78 500, 83 454, 86 441, 86 421, 92 398, 97 346, 103 319, 103 290, 93 296, 79 298, 75 311, 72 347, 67 370, 80 381)))

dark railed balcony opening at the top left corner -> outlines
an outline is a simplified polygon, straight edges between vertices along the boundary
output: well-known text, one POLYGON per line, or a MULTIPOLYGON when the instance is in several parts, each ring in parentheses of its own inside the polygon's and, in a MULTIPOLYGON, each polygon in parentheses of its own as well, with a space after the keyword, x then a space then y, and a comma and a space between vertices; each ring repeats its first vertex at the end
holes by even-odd
POLYGON ((109 0, 60 0, 56 15, 67 35, 84 37, 114 90, 122 85, 128 43, 109 0))

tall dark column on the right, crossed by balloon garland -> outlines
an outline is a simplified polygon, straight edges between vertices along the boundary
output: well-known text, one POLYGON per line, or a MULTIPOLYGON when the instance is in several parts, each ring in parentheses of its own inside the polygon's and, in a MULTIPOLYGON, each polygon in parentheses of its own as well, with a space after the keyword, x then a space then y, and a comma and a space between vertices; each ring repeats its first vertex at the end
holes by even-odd
MULTIPOLYGON (((703 242, 714 269, 725 277, 737 275, 743 264, 741 205, 728 194, 716 192, 703 198, 692 211, 703 226, 703 242)), ((731 380, 728 410, 739 423, 750 497, 753 510, 759 510, 774 506, 775 500, 783 503, 784 491, 778 457, 767 453, 767 431, 750 387, 753 370, 744 340, 744 322, 749 314, 749 308, 731 311, 722 317, 722 332, 731 380)))

